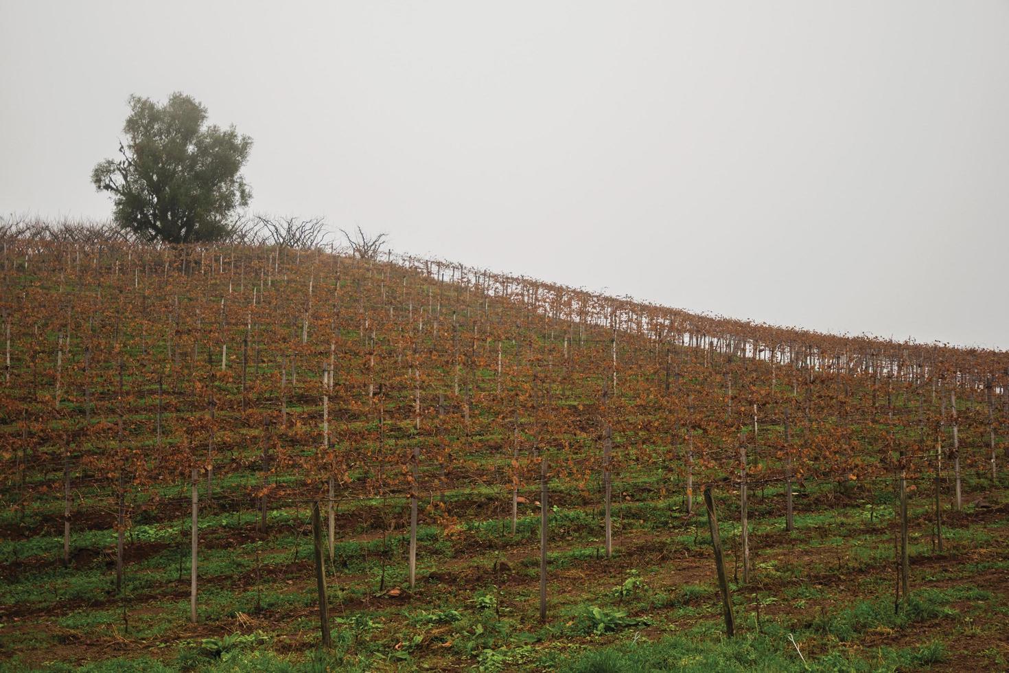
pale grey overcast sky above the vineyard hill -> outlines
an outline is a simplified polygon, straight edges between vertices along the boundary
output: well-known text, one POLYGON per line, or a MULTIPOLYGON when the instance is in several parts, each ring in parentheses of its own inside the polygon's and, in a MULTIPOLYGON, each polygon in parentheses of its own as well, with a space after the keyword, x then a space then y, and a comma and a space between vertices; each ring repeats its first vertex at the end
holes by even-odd
POLYGON ((1009 2, 0 0, 0 213, 105 217, 126 98, 251 210, 780 325, 1009 347, 1009 2))

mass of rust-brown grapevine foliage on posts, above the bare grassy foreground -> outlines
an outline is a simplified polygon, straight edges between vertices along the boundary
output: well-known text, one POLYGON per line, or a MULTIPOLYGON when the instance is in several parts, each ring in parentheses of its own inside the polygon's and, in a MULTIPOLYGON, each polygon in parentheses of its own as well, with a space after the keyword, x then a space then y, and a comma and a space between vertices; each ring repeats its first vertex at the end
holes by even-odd
POLYGON ((940 500, 961 510, 967 476, 1004 473, 1004 352, 324 249, 8 240, 0 295, 5 507, 58 498, 42 526, 64 564, 78 527, 111 525, 117 589, 132 522, 188 510, 193 621, 199 516, 222 499, 260 531, 272 509, 323 508, 330 563, 341 503, 371 503, 384 530, 405 502, 411 585, 418 521, 449 526, 449 494, 491 492, 513 533, 538 499, 545 618, 557 493, 598 502, 608 558, 614 485, 661 470, 656 495, 689 514, 697 487, 724 484, 748 581, 756 489, 780 487, 791 530, 796 488, 934 484, 940 534, 940 500))

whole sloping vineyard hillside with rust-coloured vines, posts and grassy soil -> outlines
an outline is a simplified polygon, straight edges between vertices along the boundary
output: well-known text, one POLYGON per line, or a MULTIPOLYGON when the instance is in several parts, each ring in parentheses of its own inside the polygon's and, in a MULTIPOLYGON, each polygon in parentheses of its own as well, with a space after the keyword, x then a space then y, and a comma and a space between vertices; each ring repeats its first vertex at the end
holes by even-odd
POLYGON ((0 666, 1009 664, 1009 353, 12 238, 0 666))

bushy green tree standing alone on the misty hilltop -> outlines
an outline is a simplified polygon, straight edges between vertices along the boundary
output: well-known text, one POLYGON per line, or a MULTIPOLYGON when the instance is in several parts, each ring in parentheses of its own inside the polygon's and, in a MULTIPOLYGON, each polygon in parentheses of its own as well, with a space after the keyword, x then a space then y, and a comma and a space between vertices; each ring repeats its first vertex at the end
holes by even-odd
POLYGON ((174 93, 163 105, 130 96, 118 159, 95 166, 91 181, 109 192, 124 230, 150 241, 218 240, 231 232, 228 216, 249 202, 239 175, 252 139, 234 126, 204 126, 207 108, 174 93))

